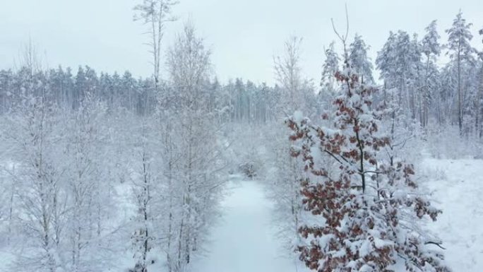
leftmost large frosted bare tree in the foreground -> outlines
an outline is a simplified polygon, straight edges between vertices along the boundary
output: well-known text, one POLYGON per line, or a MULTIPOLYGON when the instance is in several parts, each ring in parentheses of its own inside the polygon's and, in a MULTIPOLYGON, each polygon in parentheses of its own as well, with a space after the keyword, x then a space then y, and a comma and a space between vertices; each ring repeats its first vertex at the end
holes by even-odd
MULTIPOLYGON (((47 92, 45 86, 42 90, 47 92)), ((66 165, 62 150, 56 148, 64 139, 59 109, 46 97, 47 93, 23 95, 4 131, 11 143, 11 158, 19 167, 11 178, 18 182, 18 224, 29 249, 18 257, 20 271, 66 271, 62 251, 66 243, 67 196, 62 190, 66 165)))

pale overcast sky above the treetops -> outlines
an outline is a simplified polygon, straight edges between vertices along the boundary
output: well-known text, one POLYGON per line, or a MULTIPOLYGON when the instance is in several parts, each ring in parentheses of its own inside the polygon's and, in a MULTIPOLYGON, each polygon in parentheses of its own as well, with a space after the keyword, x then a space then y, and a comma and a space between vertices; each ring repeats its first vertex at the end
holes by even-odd
MULTIPOLYGON (((141 1, 141 0, 138 0, 141 1)), ((131 71, 150 76, 150 56, 143 45, 143 25, 133 22, 136 0, 0 0, 0 69, 18 63, 29 37, 50 68, 79 64, 97 72, 131 71)), ((273 56, 290 35, 303 37, 302 69, 318 82, 323 47, 335 40, 330 18, 345 28, 344 1, 325 0, 181 0, 174 8, 179 21, 167 25, 164 49, 184 20, 191 18, 198 34, 213 50, 212 61, 221 81, 242 77, 273 83, 273 56)), ((371 45, 371 57, 390 30, 423 35, 437 19, 449 28, 461 8, 473 23, 473 45, 481 49, 477 29, 483 27, 482 0, 349 0, 350 36, 357 32, 371 45)))

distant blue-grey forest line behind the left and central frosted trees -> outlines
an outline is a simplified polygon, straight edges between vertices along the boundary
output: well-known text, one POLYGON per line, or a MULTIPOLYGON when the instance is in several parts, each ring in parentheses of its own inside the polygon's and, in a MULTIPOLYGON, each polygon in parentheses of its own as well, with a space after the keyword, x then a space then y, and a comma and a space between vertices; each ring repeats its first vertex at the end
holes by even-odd
MULTIPOLYGON (((225 121, 266 123, 278 117, 281 88, 257 85, 236 78, 226 85, 216 78, 204 83, 208 90, 208 105, 225 112, 225 121)), ((315 90, 310 88, 316 98, 315 90)), ((157 92, 172 92, 173 87, 160 82, 155 88, 152 78, 134 78, 125 71, 122 75, 97 73, 89 66, 79 66, 74 74, 70 67, 31 71, 22 67, 0 71, 0 111, 7 112, 13 105, 28 95, 44 97, 59 107, 77 110, 87 95, 104 102, 109 109, 126 109, 136 114, 155 112, 157 92), (156 91, 157 90, 157 91, 156 91)))

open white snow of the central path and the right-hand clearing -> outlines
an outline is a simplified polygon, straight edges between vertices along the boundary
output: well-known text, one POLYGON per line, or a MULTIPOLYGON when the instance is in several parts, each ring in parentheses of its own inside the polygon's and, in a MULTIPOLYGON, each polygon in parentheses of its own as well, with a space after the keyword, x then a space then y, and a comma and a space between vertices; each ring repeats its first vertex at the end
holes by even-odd
MULTIPOLYGON (((443 210, 429 228, 443 240, 448 265, 455 272, 483 271, 483 160, 426 159, 422 170, 431 175, 424 187, 443 210)), ((273 203, 261 184, 235 182, 230 191, 208 252, 193 272, 307 271, 284 255, 271 221, 273 203)))

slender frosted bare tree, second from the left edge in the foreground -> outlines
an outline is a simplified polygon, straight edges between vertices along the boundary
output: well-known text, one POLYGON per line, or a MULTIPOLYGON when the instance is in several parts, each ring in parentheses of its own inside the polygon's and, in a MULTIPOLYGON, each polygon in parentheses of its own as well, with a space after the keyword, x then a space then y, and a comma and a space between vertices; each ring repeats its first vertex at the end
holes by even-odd
POLYGON ((93 271, 106 268, 112 259, 112 231, 118 226, 105 222, 114 218, 112 210, 112 179, 106 163, 108 136, 104 122, 106 107, 85 94, 78 110, 70 119, 64 119, 68 127, 65 144, 66 194, 69 196, 68 237, 69 271, 93 271))

